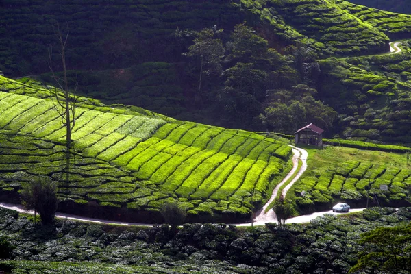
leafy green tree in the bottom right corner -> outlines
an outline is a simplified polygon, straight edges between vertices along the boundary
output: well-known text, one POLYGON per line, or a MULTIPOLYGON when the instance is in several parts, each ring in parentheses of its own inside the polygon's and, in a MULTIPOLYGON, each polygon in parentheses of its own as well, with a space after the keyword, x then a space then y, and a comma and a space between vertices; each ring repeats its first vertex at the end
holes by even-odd
POLYGON ((378 227, 362 234, 364 252, 349 273, 411 273, 411 225, 378 227))

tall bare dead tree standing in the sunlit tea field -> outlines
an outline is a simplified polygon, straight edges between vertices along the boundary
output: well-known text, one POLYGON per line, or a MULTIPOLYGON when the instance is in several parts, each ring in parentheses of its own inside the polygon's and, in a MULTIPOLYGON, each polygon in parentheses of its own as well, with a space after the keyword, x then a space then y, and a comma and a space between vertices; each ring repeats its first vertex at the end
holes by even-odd
POLYGON ((49 69, 53 74, 53 78, 55 82, 60 87, 60 90, 63 92, 63 96, 59 96, 58 88, 55 88, 55 109, 62 120, 62 124, 66 127, 66 182, 69 183, 69 170, 70 170, 70 158, 71 158, 71 132, 73 131, 73 127, 75 126, 75 91, 77 90, 77 82, 75 84, 75 88, 73 90, 73 95, 69 93, 69 80, 67 79, 67 70, 66 70, 66 45, 67 40, 69 39, 69 26, 66 25, 66 32, 65 34, 62 33, 62 29, 60 29, 59 23, 57 23, 57 27, 53 27, 54 34, 56 38, 58 38, 58 42, 60 43, 60 50, 58 53, 60 54, 62 60, 62 69, 63 69, 63 78, 58 77, 53 70, 53 61, 52 61, 52 53, 53 47, 50 46, 49 48, 49 69))

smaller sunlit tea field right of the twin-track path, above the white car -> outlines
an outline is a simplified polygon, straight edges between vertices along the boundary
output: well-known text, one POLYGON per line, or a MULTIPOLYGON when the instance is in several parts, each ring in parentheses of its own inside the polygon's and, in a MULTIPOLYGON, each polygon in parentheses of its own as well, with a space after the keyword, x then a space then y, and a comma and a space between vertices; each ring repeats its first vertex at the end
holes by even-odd
POLYGON ((411 203, 408 154, 362 151, 345 147, 309 150, 309 171, 292 186, 290 198, 301 208, 344 200, 352 205, 411 203), (381 190, 380 186, 388 186, 381 190), (301 197, 301 192, 306 195, 301 197))

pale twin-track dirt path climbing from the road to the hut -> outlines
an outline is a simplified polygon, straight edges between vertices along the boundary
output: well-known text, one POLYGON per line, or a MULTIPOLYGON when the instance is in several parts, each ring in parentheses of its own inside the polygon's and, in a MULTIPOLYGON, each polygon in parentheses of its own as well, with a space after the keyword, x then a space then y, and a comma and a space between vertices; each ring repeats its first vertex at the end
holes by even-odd
POLYGON ((288 179, 290 179, 290 177, 292 177, 292 175, 294 175, 294 173, 297 171, 299 160, 301 160, 303 162, 303 164, 302 164, 301 168, 299 169, 299 171, 297 171, 297 175, 282 190, 282 195, 284 197, 286 197, 287 192, 288 192, 288 190, 290 190, 292 184, 297 182, 299 177, 301 177, 301 175, 303 175, 304 171, 306 171, 306 169, 307 169, 307 157, 308 157, 307 151, 304 150, 304 149, 300 149, 299 147, 294 147, 292 145, 290 145, 290 147, 292 147, 292 153, 294 154, 292 156, 292 169, 287 174, 287 176, 282 180, 282 182, 280 182, 274 188, 273 193, 271 194, 271 198, 269 199, 269 201, 267 201, 266 204, 262 207, 262 209, 257 212, 256 218, 254 218, 256 223, 264 224, 264 223, 274 223, 274 222, 277 221, 277 216, 275 216, 274 210, 270 209, 267 213, 264 213, 266 211, 266 208, 268 208, 270 206, 270 203, 275 200, 275 198, 277 197, 278 191, 283 186, 283 184, 285 182, 287 182, 288 179))

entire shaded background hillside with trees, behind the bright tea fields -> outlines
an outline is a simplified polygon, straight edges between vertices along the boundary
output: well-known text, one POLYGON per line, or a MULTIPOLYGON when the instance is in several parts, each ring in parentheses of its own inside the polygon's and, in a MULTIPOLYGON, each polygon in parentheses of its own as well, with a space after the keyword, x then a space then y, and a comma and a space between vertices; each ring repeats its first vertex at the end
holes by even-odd
POLYGON ((0 5, 5 76, 53 84, 48 50, 58 70, 60 23, 69 77, 105 103, 231 128, 291 134, 314 123, 328 137, 410 143, 408 44, 395 57, 379 53, 411 36, 411 16, 340 0, 0 5))

